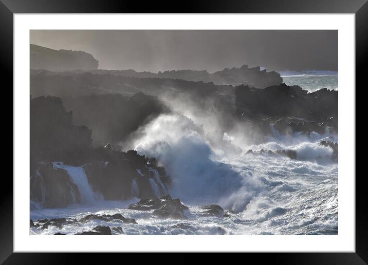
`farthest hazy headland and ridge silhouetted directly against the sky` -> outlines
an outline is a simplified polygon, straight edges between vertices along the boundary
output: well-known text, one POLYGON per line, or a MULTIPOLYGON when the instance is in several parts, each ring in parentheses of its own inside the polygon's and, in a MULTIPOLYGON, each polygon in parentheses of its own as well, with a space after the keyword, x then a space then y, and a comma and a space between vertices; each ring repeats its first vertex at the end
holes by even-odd
MULTIPOLYGON (((143 79, 172 79, 185 81, 201 81, 206 83, 225 85, 248 85, 255 88, 265 88, 272 85, 280 85, 282 78, 275 71, 267 72, 259 66, 249 68, 241 67, 225 68, 221 71, 209 73, 207 70, 168 70, 153 72, 137 72, 128 70, 100 70, 98 61, 89 53, 72 50, 53 50, 38 45, 30 45, 31 69, 49 71, 73 71, 76 73, 108 74, 120 77, 133 77, 143 79)), ((93 86, 91 88, 94 88, 93 86)))

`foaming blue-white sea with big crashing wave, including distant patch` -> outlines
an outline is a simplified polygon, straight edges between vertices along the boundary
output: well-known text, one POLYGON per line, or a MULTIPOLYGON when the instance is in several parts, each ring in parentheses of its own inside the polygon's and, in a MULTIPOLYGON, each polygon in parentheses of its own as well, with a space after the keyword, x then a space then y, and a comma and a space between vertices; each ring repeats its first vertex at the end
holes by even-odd
MULTIPOLYGON (((336 72, 282 72, 288 85, 299 85, 309 92, 321 88, 338 90, 336 72)), ((30 228, 30 235, 73 235, 108 225, 114 235, 337 235, 338 234, 338 163, 333 150, 319 144, 338 142, 338 135, 326 131, 309 135, 283 136, 274 130, 262 143, 253 143, 238 131, 230 131, 224 140, 242 149, 241 154, 217 149, 199 134, 194 125, 204 124, 192 113, 176 109, 152 120, 135 139, 138 153, 156 157, 173 178, 168 193, 189 207, 187 219, 160 219, 152 211, 127 210, 138 201, 104 201, 93 195, 82 167, 63 165, 71 179, 86 194, 82 204, 63 209, 32 207, 30 218, 80 219, 88 214, 116 214, 134 218, 137 224, 120 220, 93 220, 70 223, 61 228, 30 228), (246 154, 247 150, 292 149, 297 159, 268 154, 246 154), (208 215, 202 205, 218 204, 227 217, 208 215)), ((133 187, 132 187, 133 188, 133 187)), ((164 195, 164 194, 162 194, 164 195)))

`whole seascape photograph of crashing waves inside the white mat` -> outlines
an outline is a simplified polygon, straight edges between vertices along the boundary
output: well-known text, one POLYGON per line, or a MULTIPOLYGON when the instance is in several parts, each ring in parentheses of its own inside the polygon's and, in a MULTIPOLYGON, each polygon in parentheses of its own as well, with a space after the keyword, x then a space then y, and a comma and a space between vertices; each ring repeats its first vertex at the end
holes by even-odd
POLYGON ((30 235, 338 234, 337 34, 31 31, 30 235))

